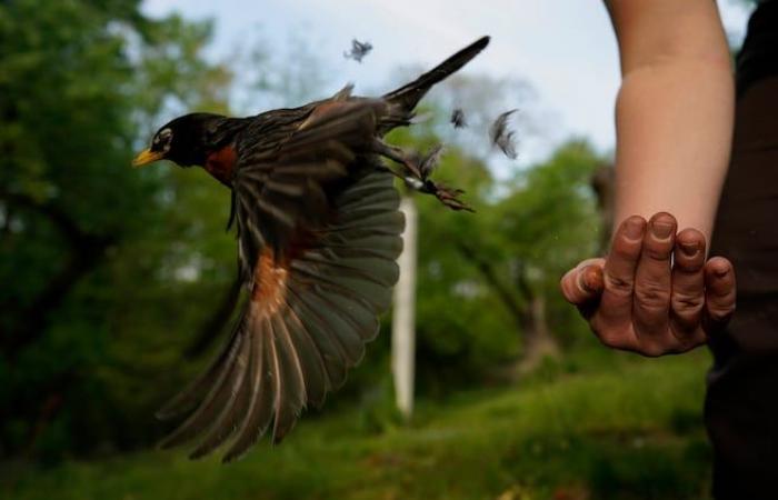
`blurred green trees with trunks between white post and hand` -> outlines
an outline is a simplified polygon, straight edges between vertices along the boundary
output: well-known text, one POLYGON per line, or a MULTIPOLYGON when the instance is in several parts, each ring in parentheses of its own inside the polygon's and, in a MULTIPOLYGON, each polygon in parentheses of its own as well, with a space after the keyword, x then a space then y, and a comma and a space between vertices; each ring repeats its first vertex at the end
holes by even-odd
POLYGON ((600 221, 589 179, 602 160, 585 141, 570 141, 503 182, 500 198, 490 194, 496 186, 483 163, 456 150, 447 161, 441 173, 469 188, 477 213, 420 203, 420 350, 435 339, 442 343, 433 350, 466 354, 477 371, 518 359, 517 373, 526 372, 573 338, 568 332, 578 322, 558 279, 597 251, 600 221))

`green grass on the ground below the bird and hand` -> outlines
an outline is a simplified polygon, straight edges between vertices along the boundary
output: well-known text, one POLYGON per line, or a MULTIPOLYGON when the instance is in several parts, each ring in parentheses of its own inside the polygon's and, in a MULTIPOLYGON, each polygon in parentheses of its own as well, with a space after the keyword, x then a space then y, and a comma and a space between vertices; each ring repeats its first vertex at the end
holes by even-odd
MULTIPOLYGON (((597 354, 507 389, 422 402, 409 426, 368 431, 351 410, 302 419, 280 447, 228 467, 146 451, 50 469, 6 467, 0 498, 701 499, 708 358, 597 354)), ((386 422, 386 419, 385 419, 386 422)))

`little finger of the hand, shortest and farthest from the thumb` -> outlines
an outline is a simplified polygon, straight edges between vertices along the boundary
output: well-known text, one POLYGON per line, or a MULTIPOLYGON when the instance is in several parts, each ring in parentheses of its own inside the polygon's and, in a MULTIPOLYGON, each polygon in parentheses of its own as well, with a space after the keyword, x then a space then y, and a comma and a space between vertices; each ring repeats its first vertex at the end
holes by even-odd
POLYGON ((735 313, 737 287, 735 269, 724 257, 705 264, 705 313, 702 326, 708 334, 724 328, 735 313))

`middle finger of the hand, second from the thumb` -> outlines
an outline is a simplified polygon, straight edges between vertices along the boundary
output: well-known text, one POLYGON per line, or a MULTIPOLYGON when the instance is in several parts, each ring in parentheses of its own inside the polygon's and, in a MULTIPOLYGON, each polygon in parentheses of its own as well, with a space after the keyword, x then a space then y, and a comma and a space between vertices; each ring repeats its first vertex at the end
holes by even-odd
POLYGON ((659 212, 648 221, 642 252, 635 272, 634 322, 641 343, 664 343, 669 334, 670 257, 676 218, 659 212), (644 339, 646 337, 646 339, 644 339))

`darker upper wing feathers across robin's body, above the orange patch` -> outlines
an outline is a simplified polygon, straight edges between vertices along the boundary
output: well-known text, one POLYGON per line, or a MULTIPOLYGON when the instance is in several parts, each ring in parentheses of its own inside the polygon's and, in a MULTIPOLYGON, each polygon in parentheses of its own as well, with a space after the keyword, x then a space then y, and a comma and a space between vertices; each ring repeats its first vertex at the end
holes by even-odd
POLYGON ((290 126, 275 122, 266 131, 260 121, 259 130, 247 131, 260 139, 239 147, 232 186, 238 254, 249 283, 265 247, 283 253, 301 228, 330 216, 330 193, 360 167, 356 159, 369 152, 385 106, 367 99, 322 101, 303 119, 292 116, 290 126))

